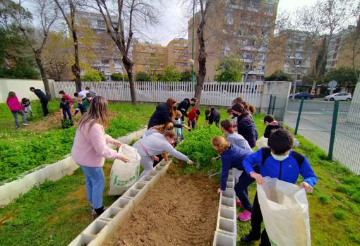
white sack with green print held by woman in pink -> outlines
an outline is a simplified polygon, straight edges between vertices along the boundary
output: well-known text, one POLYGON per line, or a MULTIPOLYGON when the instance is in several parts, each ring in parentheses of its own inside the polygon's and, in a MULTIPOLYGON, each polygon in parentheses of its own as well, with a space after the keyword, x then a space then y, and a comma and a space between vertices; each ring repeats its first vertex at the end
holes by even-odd
POLYGON ((125 163, 119 159, 114 161, 110 173, 109 195, 122 195, 139 178, 140 154, 135 148, 123 144, 119 152, 127 156, 131 161, 125 163))

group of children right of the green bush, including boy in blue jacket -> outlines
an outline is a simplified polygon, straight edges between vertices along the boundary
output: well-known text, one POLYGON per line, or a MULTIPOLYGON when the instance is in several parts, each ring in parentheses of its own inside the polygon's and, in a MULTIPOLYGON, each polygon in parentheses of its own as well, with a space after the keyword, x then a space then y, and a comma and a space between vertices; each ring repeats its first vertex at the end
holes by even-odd
POLYGON ((266 230, 264 229, 262 233, 260 231, 263 216, 258 196, 255 195, 252 205, 248 199, 248 185, 255 180, 258 185, 262 185, 263 176, 296 183, 300 174, 304 178, 300 186, 306 192, 311 192, 317 178, 306 157, 292 151, 294 147, 292 134, 282 129, 280 123, 277 123, 271 115, 263 119, 266 125, 264 137, 268 139, 268 146, 253 153, 252 149, 256 146, 258 138, 252 117, 255 109, 241 98, 236 98, 233 103, 232 108, 227 111, 232 121, 225 120, 220 124, 225 137, 217 136, 212 139, 212 146, 222 160, 218 192, 226 190, 229 170, 234 168, 236 178, 234 190, 236 197, 239 198, 236 204, 245 209, 237 218, 241 221, 251 220, 251 230, 241 237, 241 241, 251 242, 261 238, 260 245, 271 245, 266 230))

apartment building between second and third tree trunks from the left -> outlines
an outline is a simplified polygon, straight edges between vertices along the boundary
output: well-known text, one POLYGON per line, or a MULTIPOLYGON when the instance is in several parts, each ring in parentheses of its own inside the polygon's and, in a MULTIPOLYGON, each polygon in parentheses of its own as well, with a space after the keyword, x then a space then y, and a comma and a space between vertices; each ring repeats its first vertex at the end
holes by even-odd
MULTIPOLYGON (((116 16, 114 16, 114 23, 116 23, 116 16)), ((112 73, 123 73, 121 54, 119 49, 114 44, 114 41, 107 35, 106 26, 101 14, 78 11, 76 13, 76 24, 83 26, 79 28, 80 33, 80 49, 88 49, 94 56, 90 61, 91 68, 104 72, 109 78, 112 73), (81 37, 85 37, 88 33, 87 30, 91 30, 93 37, 92 47, 88 44, 81 42, 81 37)), ((85 71, 81 68, 81 73, 85 71)))

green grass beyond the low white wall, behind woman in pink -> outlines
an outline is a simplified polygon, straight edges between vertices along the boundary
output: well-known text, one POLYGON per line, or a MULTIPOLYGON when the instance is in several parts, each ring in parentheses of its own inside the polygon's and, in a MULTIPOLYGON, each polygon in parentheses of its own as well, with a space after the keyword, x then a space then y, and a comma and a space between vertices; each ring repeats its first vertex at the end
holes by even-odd
MULTIPOLYGON (((49 103, 52 113, 41 118, 39 102, 32 102, 35 117, 29 125, 16 130, 13 116, 6 104, 0 104, 0 181, 16 178, 37 166, 52 164, 71 152, 76 128, 61 129, 59 102, 49 103)), ((109 104, 112 120, 107 133, 112 137, 126 135, 148 123, 154 104, 132 106, 129 103, 109 104)), ((75 121, 80 119, 80 113, 75 121)))

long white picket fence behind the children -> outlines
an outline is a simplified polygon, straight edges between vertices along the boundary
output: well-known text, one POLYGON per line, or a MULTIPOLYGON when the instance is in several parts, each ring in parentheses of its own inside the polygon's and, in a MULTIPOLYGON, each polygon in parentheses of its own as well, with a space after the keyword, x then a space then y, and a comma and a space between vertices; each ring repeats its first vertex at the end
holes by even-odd
MULTIPOLYGON (((135 82, 136 99, 139 102, 166 102, 169 97, 181 102, 191 98, 195 93, 195 85, 191 82, 135 82)), ((111 101, 131 101, 128 82, 82 82, 83 88, 90 87, 98 95, 111 101)), ((56 93, 60 90, 73 95, 76 92, 75 82, 55 81, 56 93)), ((235 97, 243 97, 256 107, 260 106, 263 82, 205 82, 201 94, 201 104, 214 106, 230 106, 235 97)), ((57 94, 57 97, 61 97, 57 94)))

